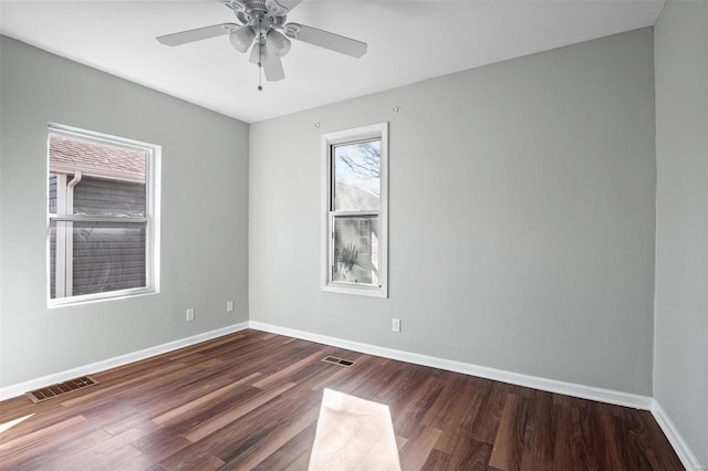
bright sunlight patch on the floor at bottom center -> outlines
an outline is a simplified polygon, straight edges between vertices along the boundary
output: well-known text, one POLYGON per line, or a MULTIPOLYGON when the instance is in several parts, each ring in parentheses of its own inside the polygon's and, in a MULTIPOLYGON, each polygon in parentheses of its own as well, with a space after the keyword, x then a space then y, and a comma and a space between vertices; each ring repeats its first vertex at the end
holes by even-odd
POLYGON ((388 406, 324 389, 310 470, 400 470, 388 406))

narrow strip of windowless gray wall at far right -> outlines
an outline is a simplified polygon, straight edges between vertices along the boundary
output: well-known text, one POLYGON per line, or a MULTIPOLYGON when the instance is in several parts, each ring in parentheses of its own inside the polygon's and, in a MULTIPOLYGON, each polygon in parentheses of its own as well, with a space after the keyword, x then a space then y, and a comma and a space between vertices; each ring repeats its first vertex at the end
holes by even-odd
POLYGON ((669 1, 655 29, 654 395, 708 464, 708 3, 669 1))

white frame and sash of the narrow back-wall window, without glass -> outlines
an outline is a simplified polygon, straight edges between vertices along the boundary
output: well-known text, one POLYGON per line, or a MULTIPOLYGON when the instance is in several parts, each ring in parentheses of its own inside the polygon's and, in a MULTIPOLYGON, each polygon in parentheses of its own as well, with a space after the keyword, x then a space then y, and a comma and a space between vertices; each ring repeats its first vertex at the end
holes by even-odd
POLYGON ((357 294, 363 296, 388 297, 388 122, 344 129, 322 135, 322 291, 331 293, 357 294), (336 145, 363 140, 381 139, 381 193, 378 211, 334 211, 332 149, 336 145), (335 216, 378 216, 378 286, 346 283, 332 280, 334 262, 334 218, 335 216))

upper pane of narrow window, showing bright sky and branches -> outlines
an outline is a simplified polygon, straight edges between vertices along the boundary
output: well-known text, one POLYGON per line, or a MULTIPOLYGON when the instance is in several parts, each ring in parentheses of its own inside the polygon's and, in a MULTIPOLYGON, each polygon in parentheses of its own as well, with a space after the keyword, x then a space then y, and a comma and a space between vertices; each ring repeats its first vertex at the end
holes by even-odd
POLYGON ((334 210, 378 210, 381 139, 333 146, 334 210))

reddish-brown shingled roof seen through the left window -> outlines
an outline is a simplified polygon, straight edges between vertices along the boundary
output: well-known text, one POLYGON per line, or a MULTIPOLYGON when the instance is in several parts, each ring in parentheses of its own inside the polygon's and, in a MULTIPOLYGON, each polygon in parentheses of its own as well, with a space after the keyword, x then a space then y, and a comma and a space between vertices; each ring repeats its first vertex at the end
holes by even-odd
POLYGON ((145 151, 50 135, 52 174, 81 171, 86 177, 145 182, 145 151))

